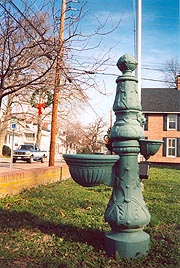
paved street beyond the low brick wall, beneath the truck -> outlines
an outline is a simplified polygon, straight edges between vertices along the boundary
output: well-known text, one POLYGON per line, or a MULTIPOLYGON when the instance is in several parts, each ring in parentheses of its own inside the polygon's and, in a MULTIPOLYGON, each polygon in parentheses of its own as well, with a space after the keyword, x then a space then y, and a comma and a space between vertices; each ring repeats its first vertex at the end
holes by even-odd
MULTIPOLYGON (((49 163, 46 160, 44 163, 33 162, 32 164, 26 163, 24 161, 17 161, 12 164, 12 171, 27 170, 32 168, 39 167, 48 167, 49 163)), ((65 162, 56 161, 55 166, 65 165, 65 162)), ((9 158, 0 158, 0 173, 10 171, 10 159, 9 158)))

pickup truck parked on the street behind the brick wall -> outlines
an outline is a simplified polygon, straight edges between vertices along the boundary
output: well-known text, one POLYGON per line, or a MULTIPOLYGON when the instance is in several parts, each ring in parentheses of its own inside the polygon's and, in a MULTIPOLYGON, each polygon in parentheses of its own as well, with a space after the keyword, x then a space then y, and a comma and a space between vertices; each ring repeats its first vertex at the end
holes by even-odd
POLYGON ((23 160, 30 164, 33 161, 44 163, 46 157, 47 152, 41 151, 36 144, 22 144, 13 151, 13 163, 16 163, 17 160, 23 160))

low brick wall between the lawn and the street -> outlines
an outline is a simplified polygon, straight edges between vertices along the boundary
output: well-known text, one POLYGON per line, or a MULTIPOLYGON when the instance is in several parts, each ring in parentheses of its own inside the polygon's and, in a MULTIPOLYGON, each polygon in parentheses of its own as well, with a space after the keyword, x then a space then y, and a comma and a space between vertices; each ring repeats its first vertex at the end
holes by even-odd
POLYGON ((69 168, 66 165, 3 172, 0 173, 0 198, 18 194, 25 189, 37 187, 38 185, 46 185, 70 177, 69 168))

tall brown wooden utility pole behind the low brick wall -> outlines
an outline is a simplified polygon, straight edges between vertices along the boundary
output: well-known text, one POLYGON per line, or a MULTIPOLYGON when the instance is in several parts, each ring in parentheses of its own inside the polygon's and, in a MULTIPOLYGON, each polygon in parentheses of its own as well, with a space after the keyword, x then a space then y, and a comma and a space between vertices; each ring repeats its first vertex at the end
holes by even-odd
POLYGON ((53 106, 52 106, 49 166, 54 166, 54 161, 55 161, 54 158, 55 158, 55 148, 56 148, 59 89, 60 89, 60 81, 61 81, 61 75, 62 75, 62 64, 63 64, 62 58, 63 58, 65 12, 66 12, 66 0, 62 0, 58 52, 57 52, 57 63, 56 63, 56 72, 55 72, 54 96, 53 96, 53 106))

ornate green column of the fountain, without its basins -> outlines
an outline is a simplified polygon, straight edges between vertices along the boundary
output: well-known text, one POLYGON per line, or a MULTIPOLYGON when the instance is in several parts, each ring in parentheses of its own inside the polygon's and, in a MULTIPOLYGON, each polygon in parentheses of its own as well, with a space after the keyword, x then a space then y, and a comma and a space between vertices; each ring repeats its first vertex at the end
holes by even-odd
POLYGON ((145 118, 138 97, 137 67, 134 57, 123 55, 118 63, 123 73, 116 80, 113 110, 116 121, 110 131, 112 151, 120 156, 114 166, 113 191, 105 211, 111 231, 105 234, 107 254, 113 257, 136 258, 147 255, 150 237, 143 228, 150 222, 140 179, 139 140, 144 138, 145 118))

